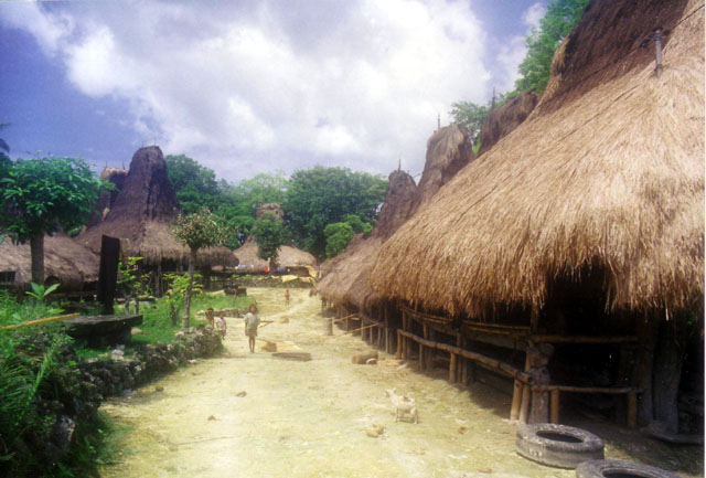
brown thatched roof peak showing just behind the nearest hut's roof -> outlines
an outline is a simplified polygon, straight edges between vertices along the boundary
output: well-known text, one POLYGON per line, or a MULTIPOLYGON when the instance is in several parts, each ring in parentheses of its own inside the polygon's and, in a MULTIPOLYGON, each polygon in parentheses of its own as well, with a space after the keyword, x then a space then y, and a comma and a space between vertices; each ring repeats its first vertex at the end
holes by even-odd
POLYGON ((478 155, 490 150, 498 141, 527 119, 538 100, 539 95, 536 93, 523 92, 516 98, 490 111, 481 128, 481 149, 478 155))

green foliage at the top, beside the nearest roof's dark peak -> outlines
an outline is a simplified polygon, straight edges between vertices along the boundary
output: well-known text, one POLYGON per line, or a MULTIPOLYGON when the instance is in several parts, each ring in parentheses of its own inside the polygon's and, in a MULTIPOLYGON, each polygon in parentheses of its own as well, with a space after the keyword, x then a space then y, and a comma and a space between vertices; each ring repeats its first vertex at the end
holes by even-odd
POLYGON ((588 0, 549 1, 539 30, 533 30, 525 40, 527 55, 520 64, 521 77, 515 83, 518 92, 544 92, 549 82, 554 52, 581 19, 587 4, 588 0))

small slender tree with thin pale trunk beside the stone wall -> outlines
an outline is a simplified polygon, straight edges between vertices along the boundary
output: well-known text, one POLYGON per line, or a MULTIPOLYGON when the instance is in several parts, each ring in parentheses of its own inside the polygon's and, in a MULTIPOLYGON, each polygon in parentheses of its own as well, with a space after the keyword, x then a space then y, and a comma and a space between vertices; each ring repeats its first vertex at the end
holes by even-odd
POLYGON ((189 247, 189 285, 186 286, 186 297, 184 298, 184 312, 182 315, 182 327, 189 327, 191 315, 191 294, 194 283, 194 264, 196 263, 196 252, 200 248, 216 246, 223 241, 223 231, 218 225, 217 217, 203 208, 200 212, 179 215, 174 226, 176 241, 189 247))

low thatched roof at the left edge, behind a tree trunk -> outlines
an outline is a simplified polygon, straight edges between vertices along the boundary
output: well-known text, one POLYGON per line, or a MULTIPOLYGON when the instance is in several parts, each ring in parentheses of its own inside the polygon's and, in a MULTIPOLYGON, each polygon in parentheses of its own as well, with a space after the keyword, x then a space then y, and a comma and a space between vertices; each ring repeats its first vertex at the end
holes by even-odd
MULTIPOLYGON (((81 290, 84 283, 98 280, 99 258, 64 234, 44 237, 44 276, 56 277, 60 291, 81 290)), ((26 287, 32 279, 30 244, 0 244, 0 272, 14 272, 14 286, 26 287)))

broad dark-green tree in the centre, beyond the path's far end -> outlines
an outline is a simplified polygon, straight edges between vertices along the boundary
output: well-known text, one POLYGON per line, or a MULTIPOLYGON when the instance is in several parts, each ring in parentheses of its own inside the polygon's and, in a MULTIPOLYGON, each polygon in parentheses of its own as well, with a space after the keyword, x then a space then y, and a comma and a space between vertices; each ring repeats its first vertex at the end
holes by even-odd
POLYGON ((346 214, 373 223, 386 188, 381 176, 319 166, 292 174, 282 208, 297 243, 323 258, 324 227, 343 222, 346 214))

